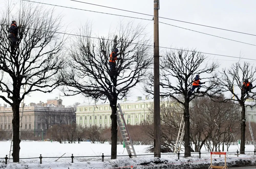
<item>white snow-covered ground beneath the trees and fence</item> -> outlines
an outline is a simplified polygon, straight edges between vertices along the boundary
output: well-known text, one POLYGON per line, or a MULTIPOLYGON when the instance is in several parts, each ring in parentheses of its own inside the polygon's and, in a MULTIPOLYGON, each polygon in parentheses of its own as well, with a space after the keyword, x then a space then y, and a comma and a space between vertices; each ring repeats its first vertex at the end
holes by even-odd
MULTIPOLYGON (((145 148, 148 146, 134 146, 136 154, 152 154, 145 153, 145 148)), ((77 157, 74 158, 74 163, 71 163, 71 155, 76 156, 110 156, 111 145, 106 144, 91 144, 90 142, 82 142, 81 144, 60 144, 57 142, 42 142, 42 141, 25 141, 20 143, 20 158, 34 158, 38 159, 21 159, 20 163, 12 163, 12 160, 8 161, 7 165, 4 164, 4 160, 0 159, 0 168, 51 168, 51 169, 75 169, 75 168, 208 168, 210 163, 210 153, 203 153, 205 148, 202 148, 201 159, 199 154, 192 154, 190 158, 184 158, 184 154, 180 154, 180 160, 178 160, 177 154, 162 154, 161 159, 154 158, 153 155, 143 155, 137 158, 130 159, 128 156, 118 157, 116 160, 110 160, 110 157, 105 157, 102 162, 101 157, 77 157), (58 158, 44 158, 44 157, 60 157, 66 153, 58 161, 58 158), (42 164, 39 164, 39 156, 42 154, 42 164), (125 167, 127 166, 127 167, 125 167)), ((9 154, 10 141, 0 141, 0 158, 4 158, 9 154)), ((236 152, 238 147, 230 146, 229 152, 236 152)), ((246 146, 246 151, 253 151, 254 147, 246 146)), ((127 151, 124 150, 123 145, 117 146, 117 155, 127 155, 127 151), (124 153, 123 153, 124 151, 124 153)), ((223 163, 224 156, 219 158, 219 155, 214 155, 214 162, 223 163)), ((246 153, 246 155, 239 155, 236 153, 227 154, 228 166, 241 166, 245 164, 255 164, 256 156, 254 153, 246 153)))

